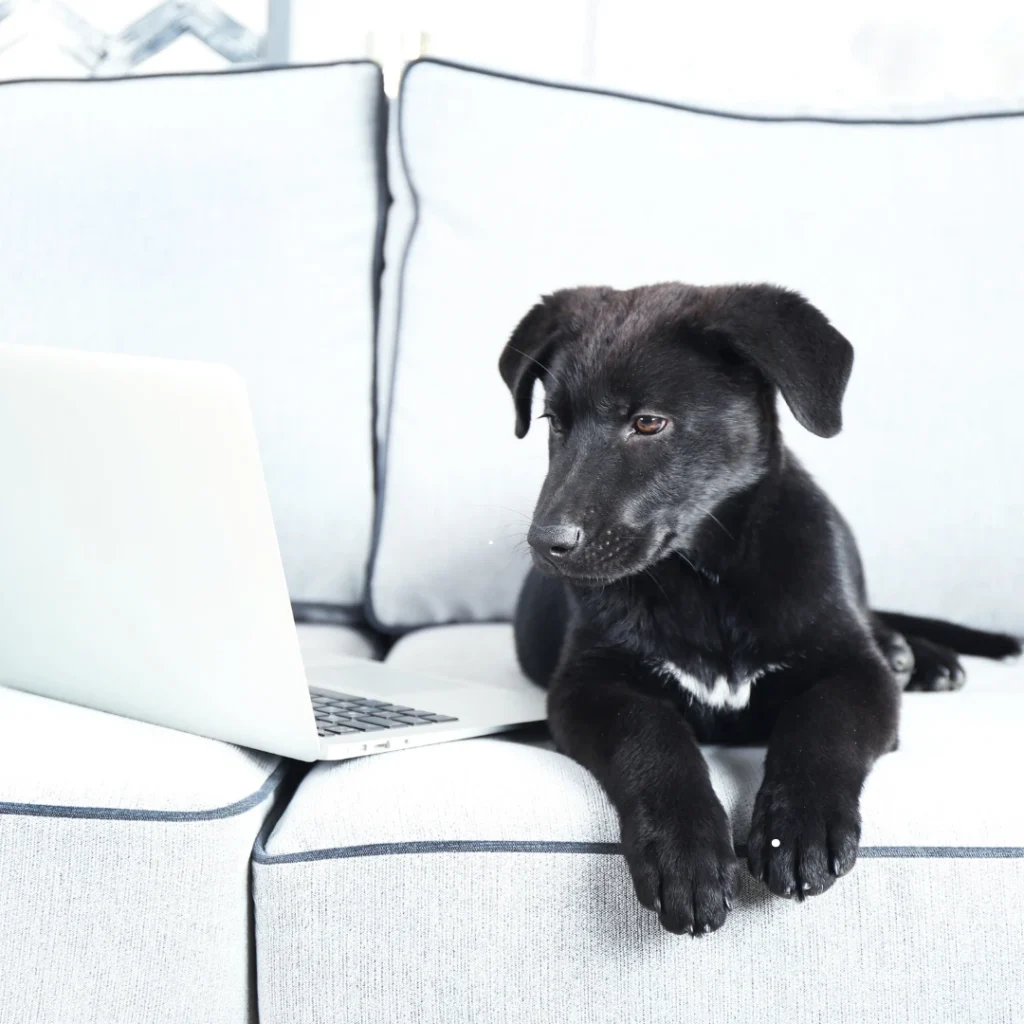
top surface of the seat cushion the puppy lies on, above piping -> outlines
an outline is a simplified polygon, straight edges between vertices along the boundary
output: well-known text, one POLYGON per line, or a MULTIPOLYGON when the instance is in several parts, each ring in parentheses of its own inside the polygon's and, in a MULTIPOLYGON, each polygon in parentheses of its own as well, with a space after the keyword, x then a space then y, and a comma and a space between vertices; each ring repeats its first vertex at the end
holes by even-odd
MULTIPOLYGON (((406 671, 494 679, 496 673, 514 666, 512 629, 467 625, 412 633, 398 641, 386 663, 406 671)), ((904 694, 900 749, 879 761, 864 791, 866 846, 1024 848, 1024 812, 1008 813, 1002 783, 1016 774, 1013 737, 1024 720, 1024 664, 966 658, 965 666, 968 682, 959 692, 904 694)), ((741 844, 764 751, 708 748, 707 752, 716 790, 741 844)), ((498 739, 321 765, 303 781, 299 797, 268 840, 268 853, 289 846, 311 849, 313 843, 346 847, 402 839, 603 842, 616 838, 604 798, 587 772, 553 749, 535 750, 498 739), (479 770, 460 768, 469 764, 479 770), (465 775, 452 811, 465 811, 462 824, 445 814, 441 779, 450 773, 465 775), (529 773, 528 782, 524 773, 529 773), (399 777, 404 779, 402 801, 385 800, 399 777), (329 794, 343 793, 342 786, 349 792, 345 813, 339 815, 338 801, 329 794), (314 812, 303 807, 307 801, 314 812), (310 825, 311 814, 321 816, 329 836, 317 833, 317 824, 310 825), (580 821, 587 822, 587 828, 581 829, 580 821), (308 827, 312 834, 304 830, 308 827)))

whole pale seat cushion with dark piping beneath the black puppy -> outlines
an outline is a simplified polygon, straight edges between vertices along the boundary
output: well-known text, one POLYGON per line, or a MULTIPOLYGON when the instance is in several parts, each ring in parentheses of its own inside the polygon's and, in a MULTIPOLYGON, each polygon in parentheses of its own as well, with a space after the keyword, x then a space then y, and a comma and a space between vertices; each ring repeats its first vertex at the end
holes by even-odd
MULTIPOLYGON (((487 672, 487 650, 504 672, 510 648, 508 628, 459 627, 411 634, 391 657, 465 676, 487 672)), ((260 1019, 344 1006, 437 1024, 1013 1020, 1024 808, 1008 780, 1024 668, 968 672, 958 693, 906 695, 900 750, 864 791, 854 871, 804 903, 744 871, 726 926, 699 942, 640 908, 610 805, 547 744, 319 765, 256 849, 260 1019), (388 907, 400 916, 368 946, 388 907)), ((764 752, 705 753, 741 849, 764 752)))

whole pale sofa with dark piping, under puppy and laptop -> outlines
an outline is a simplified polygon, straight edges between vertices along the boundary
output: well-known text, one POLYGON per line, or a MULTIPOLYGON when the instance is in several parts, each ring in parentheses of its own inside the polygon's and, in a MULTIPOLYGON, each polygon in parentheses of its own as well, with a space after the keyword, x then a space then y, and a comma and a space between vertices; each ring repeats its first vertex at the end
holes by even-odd
MULTIPOLYGON (((518 673, 545 451, 498 353, 544 292, 660 280, 824 309, 844 432, 783 430, 874 601, 1024 632, 1012 103, 723 112, 431 59, 389 102, 352 61, 3 85, 0 155, 0 340, 242 372, 310 665, 518 673)), ((0 688, 0 1022, 1020 1021, 1024 669, 967 667, 905 696, 852 874, 745 880, 700 940, 543 727, 310 768, 0 688)), ((706 756, 741 851, 763 751, 706 756)))

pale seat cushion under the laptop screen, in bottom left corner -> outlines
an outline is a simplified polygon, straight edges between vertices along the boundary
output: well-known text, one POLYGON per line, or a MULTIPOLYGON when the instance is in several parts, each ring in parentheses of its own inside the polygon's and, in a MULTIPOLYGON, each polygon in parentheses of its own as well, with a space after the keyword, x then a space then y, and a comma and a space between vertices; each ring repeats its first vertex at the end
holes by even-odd
POLYGON ((0 1018, 250 1020, 280 759, 0 688, 0 1018))

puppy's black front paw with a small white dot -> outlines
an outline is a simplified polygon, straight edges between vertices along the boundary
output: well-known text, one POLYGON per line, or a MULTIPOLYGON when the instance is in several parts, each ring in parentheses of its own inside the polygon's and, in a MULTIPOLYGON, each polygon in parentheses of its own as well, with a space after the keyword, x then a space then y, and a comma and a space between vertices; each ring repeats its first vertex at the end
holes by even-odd
POLYGON ((823 893, 857 861, 858 799, 819 785, 766 780, 754 803, 746 862, 776 896, 823 893))

